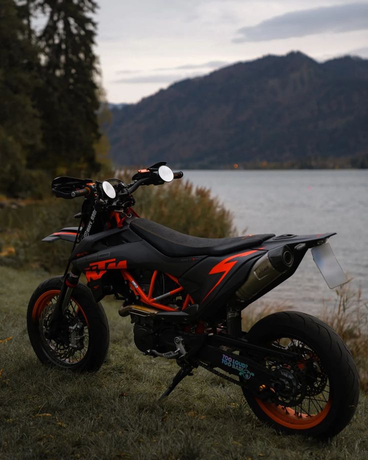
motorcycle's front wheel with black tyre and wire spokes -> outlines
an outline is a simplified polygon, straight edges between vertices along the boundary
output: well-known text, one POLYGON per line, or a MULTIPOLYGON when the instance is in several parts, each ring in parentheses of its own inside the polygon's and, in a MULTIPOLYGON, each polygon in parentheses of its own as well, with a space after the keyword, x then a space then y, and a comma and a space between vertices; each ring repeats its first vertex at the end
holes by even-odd
POLYGON ((108 323, 101 304, 95 302, 84 284, 78 283, 73 289, 57 336, 53 339, 45 336, 62 284, 62 276, 48 278, 30 297, 27 309, 30 343, 44 364, 75 371, 97 370, 108 349, 108 323))

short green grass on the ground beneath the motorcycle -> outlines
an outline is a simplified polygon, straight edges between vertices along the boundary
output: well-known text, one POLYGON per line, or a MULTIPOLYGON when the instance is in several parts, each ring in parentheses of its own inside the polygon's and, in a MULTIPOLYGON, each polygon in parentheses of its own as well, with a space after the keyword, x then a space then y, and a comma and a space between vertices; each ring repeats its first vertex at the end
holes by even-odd
POLYGON ((238 386, 194 371, 161 405, 176 365, 145 357, 131 324, 104 301, 107 360, 95 374, 42 366, 28 342, 28 298, 47 274, 0 267, 0 458, 365 459, 368 399, 331 442, 281 436, 257 421, 238 386))

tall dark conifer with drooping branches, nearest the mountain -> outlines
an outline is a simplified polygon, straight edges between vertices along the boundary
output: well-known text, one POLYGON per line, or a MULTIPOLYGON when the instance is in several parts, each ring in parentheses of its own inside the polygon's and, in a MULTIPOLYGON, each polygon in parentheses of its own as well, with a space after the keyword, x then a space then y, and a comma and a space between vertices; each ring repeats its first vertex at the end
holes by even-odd
POLYGON ((38 36, 44 143, 38 162, 54 173, 89 174, 98 169, 94 146, 100 137, 92 49, 97 5, 93 0, 37 0, 36 6, 46 16, 38 36))

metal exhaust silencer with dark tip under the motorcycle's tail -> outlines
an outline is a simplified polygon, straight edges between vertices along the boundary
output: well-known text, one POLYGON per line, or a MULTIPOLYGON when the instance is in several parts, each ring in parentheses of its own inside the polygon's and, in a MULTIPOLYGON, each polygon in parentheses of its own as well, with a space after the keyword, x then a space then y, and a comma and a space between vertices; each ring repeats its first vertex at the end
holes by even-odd
POLYGON ((249 300, 287 271, 293 262, 294 256, 288 246, 269 250, 254 263, 244 284, 235 292, 237 297, 241 300, 249 300))

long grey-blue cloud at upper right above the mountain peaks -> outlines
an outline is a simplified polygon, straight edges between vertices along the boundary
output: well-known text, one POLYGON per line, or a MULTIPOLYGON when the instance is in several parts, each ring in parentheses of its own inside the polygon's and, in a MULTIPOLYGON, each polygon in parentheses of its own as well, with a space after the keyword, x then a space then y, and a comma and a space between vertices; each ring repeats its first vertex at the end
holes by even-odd
POLYGON ((266 41, 322 32, 346 32, 368 28, 368 3, 349 3, 291 11, 240 28, 232 41, 266 41))

